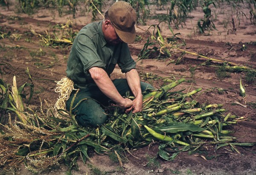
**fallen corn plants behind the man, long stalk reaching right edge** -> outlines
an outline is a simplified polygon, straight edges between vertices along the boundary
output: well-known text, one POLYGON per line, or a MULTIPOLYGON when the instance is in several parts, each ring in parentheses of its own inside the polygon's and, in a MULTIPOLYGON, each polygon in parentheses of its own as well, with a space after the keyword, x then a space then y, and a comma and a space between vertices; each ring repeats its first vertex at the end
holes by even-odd
MULTIPOLYGON (((180 33, 174 34, 172 28, 170 25, 169 29, 172 33, 172 36, 168 37, 163 37, 161 34, 160 30, 160 24, 161 23, 166 23, 166 22, 160 22, 157 25, 151 25, 146 32, 150 34, 150 36, 147 39, 147 42, 144 44, 142 50, 140 51, 140 54, 138 55, 137 61, 141 59, 148 59, 148 58, 157 58, 157 59, 171 59, 174 58, 174 55, 177 55, 177 59, 171 59, 169 63, 175 62, 175 64, 179 64, 180 60, 183 59, 183 57, 186 54, 198 56, 198 58, 202 58, 207 60, 207 65, 213 66, 213 67, 220 67, 219 65, 211 65, 212 62, 216 62, 221 65, 222 68, 225 68, 228 71, 251 71, 251 72, 256 72, 255 69, 250 68, 248 66, 244 65, 239 65, 236 64, 235 62, 228 62, 225 60, 221 59, 214 59, 214 58, 209 58, 207 56, 194 53, 194 52, 189 52, 184 49, 181 49, 181 46, 185 46, 186 42, 185 40, 179 38, 180 33), (153 28, 153 31, 150 32, 149 30, 153 28), (179 54, 179 55, 178 55, 179 54)), ((205 63, 203 64, 205 65, 205 63)))

